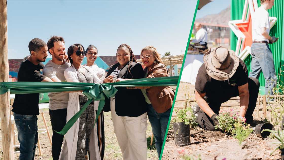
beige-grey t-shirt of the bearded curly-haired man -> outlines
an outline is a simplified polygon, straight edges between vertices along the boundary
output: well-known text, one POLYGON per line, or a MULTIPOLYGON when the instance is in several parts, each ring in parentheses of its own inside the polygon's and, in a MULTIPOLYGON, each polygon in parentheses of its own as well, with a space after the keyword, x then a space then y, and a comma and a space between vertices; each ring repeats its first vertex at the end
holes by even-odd
MULTIPOLYGON (((43 75, 46 77, 53 79, 57 77, 60 79, 61 82, 66 82, 66 79, 64 77, 64 71, 68 67, 70 67, 70 64, 64 61, 65 64, 58 65, 53 63, 53 61, 48 61, 46 65, 43 67, 43 75)), ((49 97, 49 109, 51 110, 57 110, 57 109, 64 109, 67 108, 68 100, 69 100, 69 93, 64 92, 53 92, 48 93, 49 97)))

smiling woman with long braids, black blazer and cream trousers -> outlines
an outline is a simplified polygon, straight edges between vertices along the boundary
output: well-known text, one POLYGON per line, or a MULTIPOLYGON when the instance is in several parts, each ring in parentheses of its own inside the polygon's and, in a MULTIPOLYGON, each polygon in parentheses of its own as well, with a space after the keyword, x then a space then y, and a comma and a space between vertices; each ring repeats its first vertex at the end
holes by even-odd
MULTIPOLYGON (((143 78, 143 68, 136 63, 134 54, 127 44, 121 44, 116 52, 117 63, 112 65, 106 76, 113 75, 114 81, 143 78)), ((117 93, 107 99, 104 111, 111 111, 114 133, 124 160, 147 159, 147 114, 146 102, 140 89, 129 90, 116 87, 117 93)))

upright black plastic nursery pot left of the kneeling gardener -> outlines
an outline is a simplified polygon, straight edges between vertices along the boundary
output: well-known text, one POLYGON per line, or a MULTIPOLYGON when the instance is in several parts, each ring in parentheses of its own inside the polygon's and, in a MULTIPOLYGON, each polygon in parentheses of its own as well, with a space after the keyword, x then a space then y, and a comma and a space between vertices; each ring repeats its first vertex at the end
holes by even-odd
POLYGON ((190 145, 190 126, 185 122, 174 123, 174 140, 178 146, 190 145))

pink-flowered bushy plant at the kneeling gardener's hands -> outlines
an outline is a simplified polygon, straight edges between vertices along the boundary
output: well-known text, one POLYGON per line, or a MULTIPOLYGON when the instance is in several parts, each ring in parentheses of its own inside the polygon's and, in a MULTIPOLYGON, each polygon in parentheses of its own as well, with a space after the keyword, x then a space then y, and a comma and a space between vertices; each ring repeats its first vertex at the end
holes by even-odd
POLYGON ((234 124, 245 123, 246 119, 241 117, 238 112, 232 112, 233 109, 229 111, 219 111, 217 116, 219 125, 216 125, 216 129, 220 129, 225 133, 233 134, 233 129, 235 128, 234 124))

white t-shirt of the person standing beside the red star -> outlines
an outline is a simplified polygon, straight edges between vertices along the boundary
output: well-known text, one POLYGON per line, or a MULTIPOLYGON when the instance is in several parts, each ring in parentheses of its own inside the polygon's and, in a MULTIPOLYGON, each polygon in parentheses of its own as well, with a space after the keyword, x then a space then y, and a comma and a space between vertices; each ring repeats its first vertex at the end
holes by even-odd
POLYGON ((267 38, 265 38, 264 36, 262 36, 261 34, 261 28, 265 27, 266 28, 266 32, 269 34, 270 31, 270 24, 269 24, 269 14, 268 12, 262 7, 260 6, 259 8, 257 8, 254 13, 251 15, 251 19, 252 19, 252 41, 256 40, 256 41, 263 41, 266 40, 267 42, 269 42, 269 40, 267 38))

